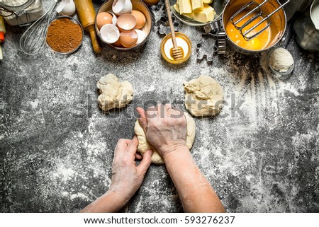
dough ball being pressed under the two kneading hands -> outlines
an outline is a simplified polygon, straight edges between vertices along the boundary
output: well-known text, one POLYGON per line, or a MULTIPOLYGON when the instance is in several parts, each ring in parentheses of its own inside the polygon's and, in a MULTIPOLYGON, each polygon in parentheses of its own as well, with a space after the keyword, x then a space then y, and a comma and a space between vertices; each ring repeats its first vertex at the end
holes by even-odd
MULTIPOLYGON (((196 131, 196 124, 192 117, 189 116, 188 113, 184 113, 187 122, 187 136, 186 136, 186 145, 189 149, 193 146, 194 139, 195 139, 195 131, 196 131)), ((138 151, 144 155, 145 151, 153 150, 152 156, 152 163, 155 164, 164 164, 164 160, 162 156, 159 155, 157 150, 150 144, 145 136, 145 132, 140 126, 138 120, 135 122, 134 127, 135 134, 138 136, 138 151)))

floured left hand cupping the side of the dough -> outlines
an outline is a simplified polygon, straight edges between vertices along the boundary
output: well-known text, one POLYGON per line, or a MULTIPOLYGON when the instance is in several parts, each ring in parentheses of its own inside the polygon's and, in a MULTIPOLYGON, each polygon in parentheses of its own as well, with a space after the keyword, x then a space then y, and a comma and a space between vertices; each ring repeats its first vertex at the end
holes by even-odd
MULTIPOLYGON (((116 145, 113 158, 111 187, 109 191, 123 197, 125 203, 140 188, 147 169, 152 163, 152 151, 146 151, 140 165, 136 165, 135 156, 138 146, 136 136, 130 139, 120 139, 116 145)), ((140 157, 140 156, 139 156, 140 157)))

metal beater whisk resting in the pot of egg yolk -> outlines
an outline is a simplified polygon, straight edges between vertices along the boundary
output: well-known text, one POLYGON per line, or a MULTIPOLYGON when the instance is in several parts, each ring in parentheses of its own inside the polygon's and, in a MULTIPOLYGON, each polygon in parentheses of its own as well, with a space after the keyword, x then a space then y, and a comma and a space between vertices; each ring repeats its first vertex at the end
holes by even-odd
POLYGON ((276 13, 277 11, 279 11, 279 9, 283 8, 286 4, 289 3, 290 0, 287 0, 284 4, 282 4, 281 6, 279 6, 278 8, 276 8, 274 11, 272 11, 272 13, 267 14, 264 11, 262 11, 261 6, 264 5, 265 3, 267 3, 267 1, 269 0, 265 0, 263 1, 261 4, 258 4, 256 1, 250 1, 249 3, 245 4, 245 6, 242 6, 242 8, 240 8, 239 11, 237 11, 231 18, 230 18, 230 23, 233 23, 233 25, 235 26, 235 28, 237 30, 240 30, 240 34, 242 34, 242 36, 245 38, 245 40, 250 40, 253 37, 256 37, 257 35, 259 35, 260 33, 262 33, 264 30, 266 30, 269 26, 270 26, 270 20, 269 18, 274 15, 274 13, 276 13), (250 8, 254 7, 251 11, 250 8), (237 21, 235 21, 235 17, 241 13, 242 11, 249 11, 248 13, 245 14, 245 16, 242 16, 241 18, 239 18, 237 21), (240 21, 244 20, 245 18, 247 18, 248 16, 250 16, 252 13, 256 13, 254 16, 251 16, 251 18, 249 18, 244 24, 242 25, 237 25, 238 23, 240 23, 240 21), (257 20, 257 18, 262 17, 262 20, 259 21, 258 23, 256 23, 255 25, 252 26, 252 28, 249 28, 247 30, 245 30, 245 28, 250 25, 253 21, 257 20), (256 33, 254 33, 253 35, 249 35, 250 32, 252 30, 254 30, 255 28, 257 28, 259 25, 261 25, 262 23, 264 23, 264 21, 267 21, 267 25, 264 26, 264 28, 262 28, 261 30, 257 31, 256 33))

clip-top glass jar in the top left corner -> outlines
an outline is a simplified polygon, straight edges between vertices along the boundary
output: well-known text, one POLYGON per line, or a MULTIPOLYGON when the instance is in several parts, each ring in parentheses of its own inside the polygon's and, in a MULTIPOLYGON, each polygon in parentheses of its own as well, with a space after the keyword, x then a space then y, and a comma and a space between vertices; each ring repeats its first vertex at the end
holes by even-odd
POLYGON ((0 0, 0 15, 9 25, 29 25, 43 13, 40 0, 0 0))

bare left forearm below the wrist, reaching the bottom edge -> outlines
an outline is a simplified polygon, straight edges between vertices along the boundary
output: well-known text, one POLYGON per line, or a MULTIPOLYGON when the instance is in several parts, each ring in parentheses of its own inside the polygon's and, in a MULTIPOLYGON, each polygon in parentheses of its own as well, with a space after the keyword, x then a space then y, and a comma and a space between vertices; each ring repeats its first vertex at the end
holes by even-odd
POLYGON ((94 202, 82 209, 81 213, 114 213, 119 211, 127 201, 120 194, 108 191, 94 202))

